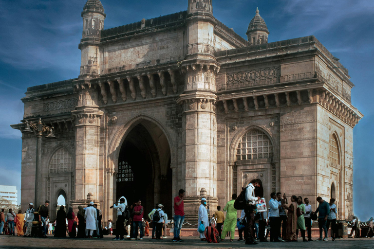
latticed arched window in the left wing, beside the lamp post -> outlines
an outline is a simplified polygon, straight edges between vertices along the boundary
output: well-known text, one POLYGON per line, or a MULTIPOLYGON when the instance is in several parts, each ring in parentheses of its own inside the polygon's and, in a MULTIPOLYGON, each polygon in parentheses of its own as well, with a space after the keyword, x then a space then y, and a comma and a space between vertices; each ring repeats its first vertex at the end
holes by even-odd
POLYGON ((64 148, 58 149, 49 163, 50 173, 71 172, 73 169, 72 155, 64 148))

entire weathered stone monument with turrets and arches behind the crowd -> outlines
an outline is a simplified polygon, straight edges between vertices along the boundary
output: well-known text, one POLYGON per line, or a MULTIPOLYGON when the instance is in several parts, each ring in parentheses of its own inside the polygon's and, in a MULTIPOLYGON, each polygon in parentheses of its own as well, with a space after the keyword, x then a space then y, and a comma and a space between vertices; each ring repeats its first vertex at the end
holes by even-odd
MULTIPOLYGON (((268 43, 256 10, 243 39, 213 16, 212 0, 187 11, 111 29, 100 0, 82 12, 80 75, 27 89, 22 123, 53 126, 42 140, 34 200, 36 137, 22 136, 23 208, 63 195, 77 210, 125 196, 145 213, 186 190, 186 220, 199 200, 211 212, 253 178, 271 192, 337 199, 353 213, 353 128, 346 70, 314 36, 268 43)), ((51 212, 52 218, 54 212, 51 212)))

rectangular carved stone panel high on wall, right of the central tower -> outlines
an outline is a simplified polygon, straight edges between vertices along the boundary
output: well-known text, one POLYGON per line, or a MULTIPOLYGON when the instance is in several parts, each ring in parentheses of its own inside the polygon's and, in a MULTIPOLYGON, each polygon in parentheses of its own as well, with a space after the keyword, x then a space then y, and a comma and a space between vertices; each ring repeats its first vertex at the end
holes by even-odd
POLYGON ((280 67, 255 69, 250 71, 227 73, 226 89, 237 89, 279 83, 280 67))

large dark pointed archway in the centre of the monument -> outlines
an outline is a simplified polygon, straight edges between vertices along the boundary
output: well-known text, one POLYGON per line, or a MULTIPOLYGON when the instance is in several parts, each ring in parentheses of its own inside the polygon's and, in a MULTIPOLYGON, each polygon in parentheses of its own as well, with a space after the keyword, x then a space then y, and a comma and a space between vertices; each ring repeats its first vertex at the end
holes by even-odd
POLYGON ((172 171, 165 134, 150 121, 135 125, 122 142, 118 155, 115 198, 125 196, 128 204, 142 201, 144 217, 162 203, 172 215, 172 171))

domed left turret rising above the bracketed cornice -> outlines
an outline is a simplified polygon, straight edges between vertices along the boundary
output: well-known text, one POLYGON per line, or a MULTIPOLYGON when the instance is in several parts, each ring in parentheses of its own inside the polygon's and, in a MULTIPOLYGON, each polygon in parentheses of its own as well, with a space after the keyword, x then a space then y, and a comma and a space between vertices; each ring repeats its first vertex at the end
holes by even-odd
POLYGON ((100 0, 88 0, 82 11, 83 33, 80 40, 81 66, 79 78, 95 78, 100 74, 100 36, 104 29, 104 7, 100 0))

